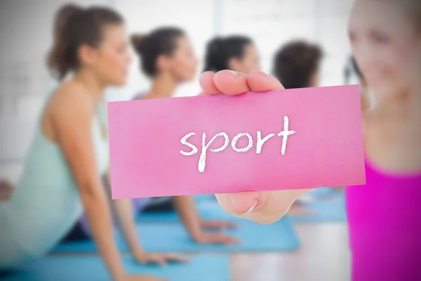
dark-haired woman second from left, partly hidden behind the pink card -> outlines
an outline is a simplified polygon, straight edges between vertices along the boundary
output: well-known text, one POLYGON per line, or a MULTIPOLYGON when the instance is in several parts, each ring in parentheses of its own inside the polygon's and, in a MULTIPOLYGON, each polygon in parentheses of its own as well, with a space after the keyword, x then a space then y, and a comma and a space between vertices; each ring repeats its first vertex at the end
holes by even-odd
MULTIPOLYGON (((199 60, 194 55, 192 44, 183 30, 161 27, 149 34, 133 34, 131 41, 140 57, 142 72, 152 79, 151 90, 147 93, 138 93, 135 99, 170 98, 180 84, 194 79, 199 60)), ((239 242, 229 235, 203 231, 233 228, 235 224, 203 220, 196 210, 194 197, 140 198, 133 200, 133 203, 138 212, 176 209, 189 234, 198 243, 239 242)))

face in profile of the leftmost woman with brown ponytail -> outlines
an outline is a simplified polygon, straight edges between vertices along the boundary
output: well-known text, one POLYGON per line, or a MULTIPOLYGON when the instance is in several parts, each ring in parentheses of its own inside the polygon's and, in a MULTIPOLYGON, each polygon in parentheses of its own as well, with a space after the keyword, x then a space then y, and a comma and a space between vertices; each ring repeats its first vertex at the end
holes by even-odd
POLYGON ((100 46, 87 48, 82 55, 82 64, 88 65, 107 86, 126 84, 132 58, 124 25, 105 26, 100 46))

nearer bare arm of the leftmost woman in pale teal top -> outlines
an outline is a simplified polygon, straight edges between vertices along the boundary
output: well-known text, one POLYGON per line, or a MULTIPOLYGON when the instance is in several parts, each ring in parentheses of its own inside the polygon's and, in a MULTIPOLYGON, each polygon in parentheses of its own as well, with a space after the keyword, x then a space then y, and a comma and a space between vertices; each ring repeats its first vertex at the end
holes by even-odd
POLYGON ((72 94, 72 98, 62 98, 52 116, 55 139, 79 187, 88 223, 102 259, 112 277, 119 280, 125 276, 125 271, 114 244, 112 218, 95 162, 91 136, 93 105, 85 96, 72 94))

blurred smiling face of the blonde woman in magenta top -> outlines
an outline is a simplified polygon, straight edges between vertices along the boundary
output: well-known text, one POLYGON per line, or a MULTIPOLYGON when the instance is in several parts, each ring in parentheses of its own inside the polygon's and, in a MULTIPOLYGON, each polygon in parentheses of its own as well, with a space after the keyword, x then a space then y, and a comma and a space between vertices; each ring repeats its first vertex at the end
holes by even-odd
POLYGON ((408 90, 420 77, 421 40, 401 0, 356 0, 349 39, 356 63, 377 99, 408 90))

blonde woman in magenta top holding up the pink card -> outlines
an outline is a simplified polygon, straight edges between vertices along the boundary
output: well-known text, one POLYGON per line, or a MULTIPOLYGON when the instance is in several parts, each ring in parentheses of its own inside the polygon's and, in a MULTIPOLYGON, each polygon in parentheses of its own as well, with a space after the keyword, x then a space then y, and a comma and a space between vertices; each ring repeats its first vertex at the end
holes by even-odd
MULTIPOLYGON (((348 187, 352 280, 421 280, 421 1, 356 0, 349 37, 375 105, 363 113, 366 186, 348 187)), ((260 72, 206 72, 203 91, 281 89, 260 72)), ((226 211, 272 223, 309 190, 217 195, 226 211)))

